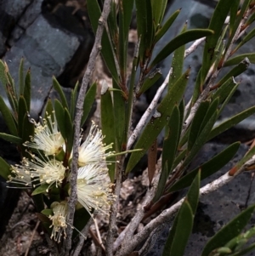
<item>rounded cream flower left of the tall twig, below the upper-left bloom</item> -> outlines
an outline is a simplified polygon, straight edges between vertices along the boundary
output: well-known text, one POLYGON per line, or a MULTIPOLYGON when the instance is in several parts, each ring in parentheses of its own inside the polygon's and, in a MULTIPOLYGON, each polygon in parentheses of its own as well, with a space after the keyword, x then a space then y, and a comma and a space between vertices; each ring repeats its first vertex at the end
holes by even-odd
POLYGON ((63 162, 59 162, 55 157, 49 159, 46 156, 41 160, 37 156, 31 156, 32 159, 29 161, 29 168, 33 181, 38 180, 41 185, 48 184, 48 188, 54 184, 58 187, 59 183, 62 183, 62 180, 65 178, 63 162))

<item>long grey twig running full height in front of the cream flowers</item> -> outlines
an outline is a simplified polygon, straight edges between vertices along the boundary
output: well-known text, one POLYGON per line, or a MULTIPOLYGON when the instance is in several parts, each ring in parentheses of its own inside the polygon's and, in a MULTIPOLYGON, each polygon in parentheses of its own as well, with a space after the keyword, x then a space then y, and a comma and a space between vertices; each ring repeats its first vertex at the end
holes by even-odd
POLYGON ((65 253, 66 256, 69 255, 69 252, 71 250, 71 236, 73 231, 71 226, 73 225, 75 206, 77 203, 77 162, 78 162, 78 156, 79 156, 78 148, 79 148, 83 103, 84 103, 85 94, 88 88, 88 82, 90 81, 94 71, 95 60, 101 48, 101 38, 103 35, 105 22, 110 13, 110 9, 111 9, 111 0, 105 0, 104 9, 99 18, 99 25, 98 25, 98 29, 95 36, 94 46, 89 56, 88 67, 84 74, 84 77, 82 78, 82 86, 77 99, 76 117, 74 120, 75 132, 74 132, 73 157, 71 162, 71 180, 70 180, 71 195, 68 202, 69 211, 67 215, 67 222, 70 225, 68 225, 66 229, 67 237, 66 237, 65 244, 63 246, 64 250, 62 251, 62 253, 65 253))

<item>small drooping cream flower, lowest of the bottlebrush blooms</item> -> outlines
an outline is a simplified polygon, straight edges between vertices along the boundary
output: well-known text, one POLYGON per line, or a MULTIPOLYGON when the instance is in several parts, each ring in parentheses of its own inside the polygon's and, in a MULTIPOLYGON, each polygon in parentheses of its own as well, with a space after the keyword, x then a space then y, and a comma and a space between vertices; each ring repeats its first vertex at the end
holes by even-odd
POLYGON ((50 238, 54 238, 54 241, 60 242, 61 236, 66 237, 65 229, 67 226, 67 203, 66 202, 53 202, 50 206, 54 215, 49 215, 48 219, 52 221, 50 228, 53 228, 50 238))

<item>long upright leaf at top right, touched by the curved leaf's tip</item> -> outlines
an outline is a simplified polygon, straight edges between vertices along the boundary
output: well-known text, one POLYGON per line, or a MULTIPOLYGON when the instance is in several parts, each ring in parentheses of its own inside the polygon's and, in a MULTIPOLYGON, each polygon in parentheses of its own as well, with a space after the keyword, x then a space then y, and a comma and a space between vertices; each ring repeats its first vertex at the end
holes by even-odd
POLYGON ((205 43, 201 66, 201 85, 205 82, 207 72, 212 65, 215 54, 214 49, 216 48, 218 38, 220 37, 221 31, 224 27, 224 21, 229 13, 229 9, 231 8, 233 2, 233 0, 220 0, 212 14, 212 19, 210 21, 208 29, 214 31, 214 34, 207 37, 205 43))

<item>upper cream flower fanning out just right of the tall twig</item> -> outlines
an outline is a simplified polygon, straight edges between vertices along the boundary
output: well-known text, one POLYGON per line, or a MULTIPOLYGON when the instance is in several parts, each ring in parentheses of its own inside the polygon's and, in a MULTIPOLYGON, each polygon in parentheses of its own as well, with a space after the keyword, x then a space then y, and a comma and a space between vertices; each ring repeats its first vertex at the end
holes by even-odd
POLYGON ((105 145, 104 138, 102 131, 92 122, 88 137, 79 147, 78 165, 80 167, 91 163, 107 163, 106 156, 111 156, 113 152, 105 152, 112 148, 112 144, 105 145))

